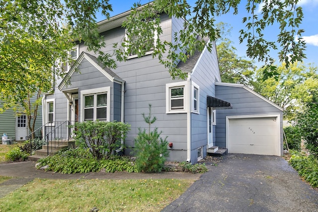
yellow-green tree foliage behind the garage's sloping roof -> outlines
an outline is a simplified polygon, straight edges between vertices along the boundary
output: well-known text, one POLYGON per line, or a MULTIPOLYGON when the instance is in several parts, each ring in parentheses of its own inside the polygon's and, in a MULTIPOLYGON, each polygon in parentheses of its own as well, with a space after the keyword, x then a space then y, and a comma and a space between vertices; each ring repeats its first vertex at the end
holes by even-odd
POLYGON ((264 66, 257 70, 251 83, 255 92, 284 107, 284 118, 291 119, 304 103, 313 101, 317 94, 317 67, 306 67, 300 62, 281 66, 264 66))

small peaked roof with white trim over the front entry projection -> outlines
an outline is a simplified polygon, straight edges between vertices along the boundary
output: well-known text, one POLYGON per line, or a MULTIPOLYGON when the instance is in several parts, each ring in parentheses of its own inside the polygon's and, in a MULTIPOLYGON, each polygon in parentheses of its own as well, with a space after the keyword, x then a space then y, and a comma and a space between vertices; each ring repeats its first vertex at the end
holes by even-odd
POLYGON ((82 52, 79 55, 79 58, 76 60, 75 64, 72 66, 71 70, 67 73, 67 75, 62 80, 61 84, 59 85, 59 90, 62 91, 64 86, 67 84, 70 77, 73 75, 75 70, 79 67, 79 64, 86 59, 90 64, 92 64, 98 71, 100 71, 105 77, 107 77, 111 82, 118 82, 124 83, 125 81, 122 80, 117 74, 115 74, 112 70, 107 67, 104 67, 96 57, 88 54, 87 52, 82 52), (104 68, 102 68, 104 67, 104 68))

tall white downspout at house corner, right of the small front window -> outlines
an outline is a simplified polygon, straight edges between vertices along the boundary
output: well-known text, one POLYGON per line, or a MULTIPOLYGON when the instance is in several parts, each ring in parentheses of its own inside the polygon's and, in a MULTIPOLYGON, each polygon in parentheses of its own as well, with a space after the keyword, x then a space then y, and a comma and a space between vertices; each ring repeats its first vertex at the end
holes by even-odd
POLYGON ((188 106, 187 106, 187 162, 191 162, 191 74, 188 73, 187 78, 188 87, 188 106))

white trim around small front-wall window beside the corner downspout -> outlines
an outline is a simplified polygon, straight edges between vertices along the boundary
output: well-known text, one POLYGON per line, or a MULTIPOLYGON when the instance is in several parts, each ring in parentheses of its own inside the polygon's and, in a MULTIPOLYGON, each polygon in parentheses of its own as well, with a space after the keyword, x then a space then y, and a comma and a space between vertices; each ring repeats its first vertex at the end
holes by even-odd
POLYGON ((166 113, 185 113, 188 109, 188 87, 187 82, 165 84, 165 112, 166 113), (183 89, 183 109, 170 109, 170 89, 174 87, 184 87, 183 89))

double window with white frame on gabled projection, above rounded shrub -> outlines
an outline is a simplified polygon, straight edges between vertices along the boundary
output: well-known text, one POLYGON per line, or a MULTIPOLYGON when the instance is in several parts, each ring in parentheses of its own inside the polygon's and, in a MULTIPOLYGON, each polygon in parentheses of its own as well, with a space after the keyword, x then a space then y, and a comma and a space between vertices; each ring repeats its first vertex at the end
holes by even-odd
POLYGON ((109 121, 110 88, 84 90, 81 94, 81 120, 109 121))

